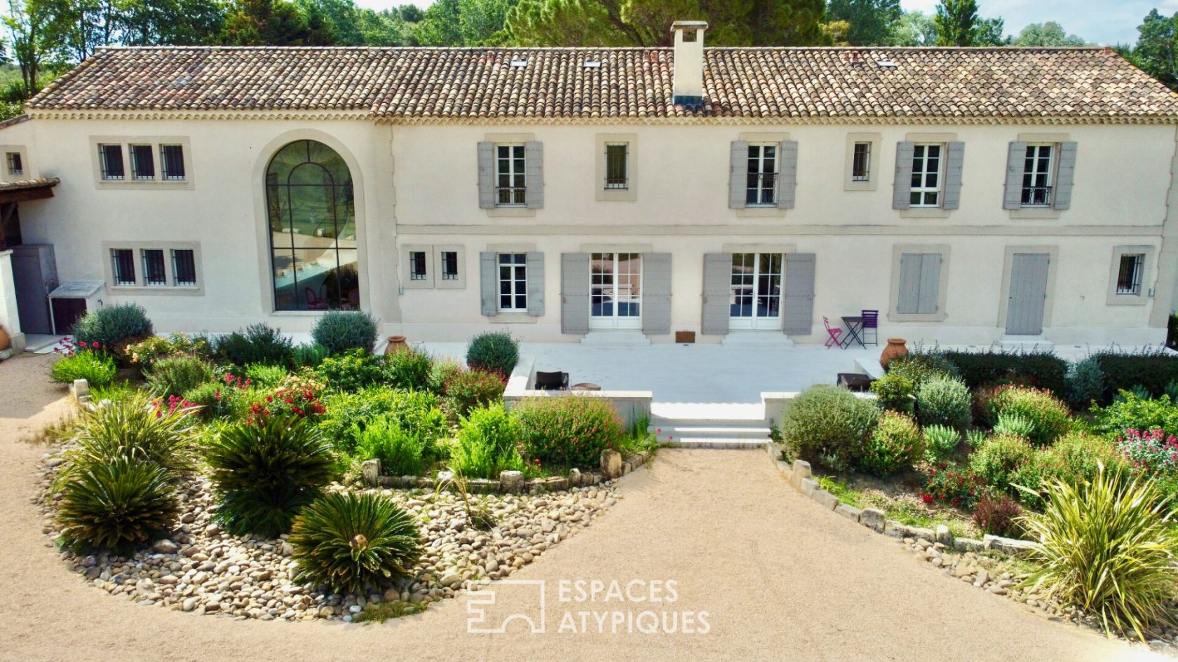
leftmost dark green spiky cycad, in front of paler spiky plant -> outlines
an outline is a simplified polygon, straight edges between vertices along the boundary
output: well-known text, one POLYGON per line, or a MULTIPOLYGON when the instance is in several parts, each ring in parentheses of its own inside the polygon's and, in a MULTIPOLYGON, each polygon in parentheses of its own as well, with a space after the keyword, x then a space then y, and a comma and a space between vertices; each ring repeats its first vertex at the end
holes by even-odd
POLYGON ((117 457, 78 470, 65 483, 58 508, 70 544, 128 554, 176 522, 180 502, 168 474, 137 457, 117 457))

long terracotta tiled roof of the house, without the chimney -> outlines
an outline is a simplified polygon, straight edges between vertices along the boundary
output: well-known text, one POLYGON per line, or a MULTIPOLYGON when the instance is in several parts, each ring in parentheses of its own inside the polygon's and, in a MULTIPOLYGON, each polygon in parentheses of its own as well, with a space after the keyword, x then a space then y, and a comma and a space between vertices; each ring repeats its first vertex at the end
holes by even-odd
POLYGON ((351 112, 391 121, 1178 118, 1178 94, 1099 48, 704 53, 703 102, 687 107, 671 104, 670 48, 296 47, 106 48, 27 107, 351 112))

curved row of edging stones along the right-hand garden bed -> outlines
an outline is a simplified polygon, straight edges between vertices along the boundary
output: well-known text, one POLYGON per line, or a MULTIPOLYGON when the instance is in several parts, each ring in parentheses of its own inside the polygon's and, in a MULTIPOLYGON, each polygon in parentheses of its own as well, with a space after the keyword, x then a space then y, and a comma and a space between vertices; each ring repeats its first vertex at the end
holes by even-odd
POLYGON ((781 474, 781 477, 793 485, 795 490, 801 492, 803 496, 809 497, 812 501, 827 510, 833 510, 852 522, 858 522, 863 527, 867 527, 876 534, 884 534, 893 538, 924 538, 928 542, 941 543, 945 547, 953 548, 959 551, 993 550, 1011 556, 1024 554, 1034 544, 1031 541, 1006 538, 990 534, 986 534, 980 541, 977 538, 954 538, 953 534, 949 532, 949 528, 945 524, 938 524, 935 530, 921 527, 908 527, 907 524, 901 524, 894 519, 888 519, 882 510, 875 508, 855 508, 840 502, 839 497, 820 488, 818 481, 810 477, 813 474, 810 472, 810 465, 808 462, 803 459, 795 459, 793 464, 790 464, 780 459, 782 454, 780 444, 769 443, 766 448, 769 450, 769 457, 777 466, 777 472, 781 474))

